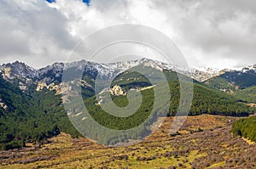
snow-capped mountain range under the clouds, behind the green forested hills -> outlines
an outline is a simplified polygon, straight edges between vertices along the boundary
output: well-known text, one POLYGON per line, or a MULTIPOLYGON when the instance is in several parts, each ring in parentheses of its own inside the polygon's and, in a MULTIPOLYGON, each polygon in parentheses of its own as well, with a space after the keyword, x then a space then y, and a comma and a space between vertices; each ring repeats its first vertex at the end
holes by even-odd
POLYGON ((93 74, 100 74, 101 76, 109 77, 113 76, 114 73, 121 73, 136 65, 148 65, 159 70, 174 70, 183 75, 190 76, 198 82, 205 82, 210 87, 224 91, 243 89, 251 87, 256 83, 256 65, 247 66, 241 70, 214 70, 211 68, 183 70, 183 68, 177 65, 145 58, 110 64, 98 64, 80 60, 72 63, 55 63, 41 69, 34 69, 29 65, 16 61, 0 65, 0 74, 8 82, 18 82, 17 85, 20 89, 26 91, 31 85, 37 85, 38 83, 46 83, 46 85, 53 82, 60 83, 64 68, 75 67, 79 69, 79 67, 84 67, 84 72, 89 72, 91 76, 95 76, 93 74))

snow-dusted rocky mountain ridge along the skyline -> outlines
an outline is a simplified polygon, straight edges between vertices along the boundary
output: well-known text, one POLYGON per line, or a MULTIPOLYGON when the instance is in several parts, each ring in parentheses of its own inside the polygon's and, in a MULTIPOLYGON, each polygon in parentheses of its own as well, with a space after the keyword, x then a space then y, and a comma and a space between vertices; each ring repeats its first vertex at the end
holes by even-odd
MULTIPOLYGON (((106 76, 107 78, 113 76, 113 73, 121 73, 126 69, 131 68, 135 65, 145 65, 151 66, 157 70, 174 70, 183 75, 190 76, 199 82, 206 82, 212 77, 221 76, 225 79, 233 81, 234 76, 239 76, 240 74, 253 73, 255 74, 256 65, 248 66, 243 68, 241 71, 238 70, 213 70, 207 68, 205 70, 189 69, 184 70, 178 65, 170 65, 160 61, 152 59, 137 59, 131 61, 122 61, 110 64, 98 64, 95 62, 90 62, 86 60, 80 60, 72 63, 55 63, 53 65, 48 65, 41 69, 34 69, 25 63, 15 61, 14 63, 8 63, 0 65, 0 73, 3 79, 14 82, 19 81, 19 87, 21 90, 27 90, 28 85, 32 85, 38 82, 45 82, 48 85, 52 82, 61 82, 61 76, 64 68, 76 67, 77 69, 84 67, 84 71, 90 71, 91 73, 99 73, 101 76, 106 76), (236 75, 235 75, 236 74, 236 75), (230 76, 234 75, 234 76, 230 76)), ((236 79, 235 79, 236 80, 236 79)), ((253 82, 254 84, 254 82, 253 82)), ((220 89, 220 88, 218 88, 220 89)))

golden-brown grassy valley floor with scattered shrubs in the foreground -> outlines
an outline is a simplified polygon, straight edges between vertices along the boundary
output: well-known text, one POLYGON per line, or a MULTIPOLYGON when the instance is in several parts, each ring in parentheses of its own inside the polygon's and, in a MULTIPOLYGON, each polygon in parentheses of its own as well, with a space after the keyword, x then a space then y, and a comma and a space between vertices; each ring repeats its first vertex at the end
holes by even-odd
POLYGON ((170 136, 172 117, 167 117, 150 138, 120 148, 61 133, 41 147, 27 144, 23 149, 1 151, 0 168, 255 168, 256 144, 230 132, 238 119, 189 116, 177 136, 170 136))

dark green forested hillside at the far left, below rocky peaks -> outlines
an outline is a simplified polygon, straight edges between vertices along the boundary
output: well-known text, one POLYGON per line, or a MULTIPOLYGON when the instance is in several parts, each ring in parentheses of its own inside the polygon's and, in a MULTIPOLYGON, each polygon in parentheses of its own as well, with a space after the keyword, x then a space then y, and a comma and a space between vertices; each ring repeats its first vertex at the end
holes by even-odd
POLYGON ((79 136, 55 92, 44 90, 28 96, 0 78, 0 93, 9 107, 0 109, 0 149, 19 148, 25 142, 43 142, 60 132, 79 136))

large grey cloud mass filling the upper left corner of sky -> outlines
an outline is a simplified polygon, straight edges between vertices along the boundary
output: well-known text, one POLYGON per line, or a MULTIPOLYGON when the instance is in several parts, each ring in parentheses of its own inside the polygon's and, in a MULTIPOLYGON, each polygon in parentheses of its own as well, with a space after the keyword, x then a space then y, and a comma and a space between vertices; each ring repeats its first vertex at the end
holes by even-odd
POLYGON ((67 31, 67 19, 48 3, 0 3, 0 62, 20 60, 40 67, 63 60, 77 41, 67 31))

